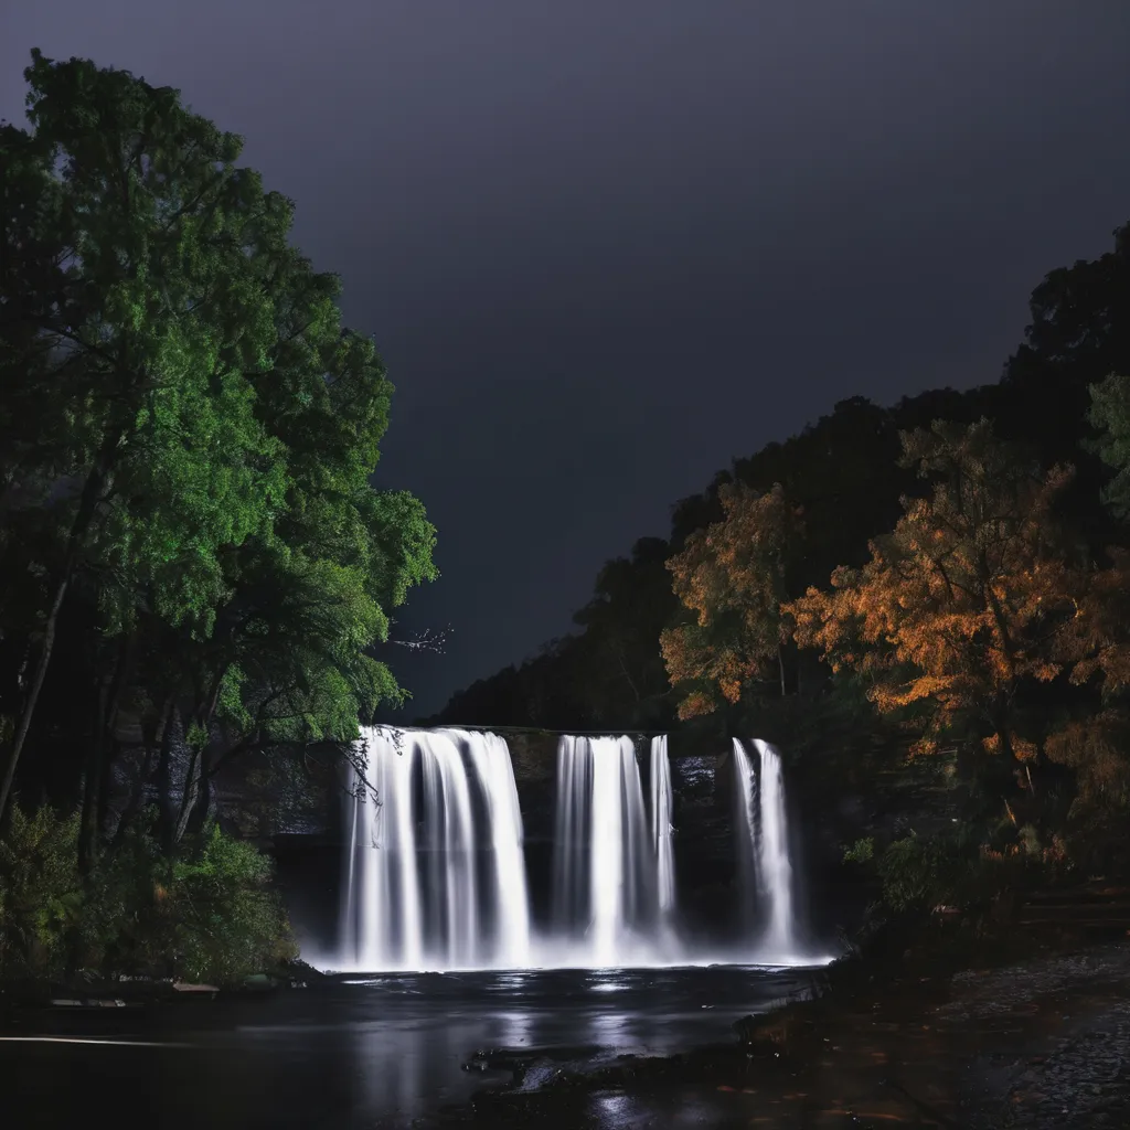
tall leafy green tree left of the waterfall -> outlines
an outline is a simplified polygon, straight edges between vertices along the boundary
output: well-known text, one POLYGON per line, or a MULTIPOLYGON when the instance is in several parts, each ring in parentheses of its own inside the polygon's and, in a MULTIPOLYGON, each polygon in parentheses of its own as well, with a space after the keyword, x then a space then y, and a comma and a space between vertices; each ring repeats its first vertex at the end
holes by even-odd
POLYGON ((237 167, 241 139, 124 71, 33 52, 26 76, 34 132, 2 137, 0 431, 19 442, 0 489, 47 551, 0 811, 78 582, 115 642, 86 838, 123 704, 166 751, 180 720, 183 828, 219 720, 348 741, 400 698, 370 653, 435 577, 435 531, 370 483, 392 388, 342 329, 338 279, 290 246, 292 202, 237 167))

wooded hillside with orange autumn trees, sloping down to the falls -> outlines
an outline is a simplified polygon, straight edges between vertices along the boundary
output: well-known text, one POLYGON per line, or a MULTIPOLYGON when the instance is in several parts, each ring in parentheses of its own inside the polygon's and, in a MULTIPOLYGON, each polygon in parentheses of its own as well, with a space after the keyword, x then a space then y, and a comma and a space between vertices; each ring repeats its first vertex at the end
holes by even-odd
POLYGON ((1031 312, 996 384, 737 460, 436 721, 767 738, 880 916, 1130 870, 1130 226, 1031 312))

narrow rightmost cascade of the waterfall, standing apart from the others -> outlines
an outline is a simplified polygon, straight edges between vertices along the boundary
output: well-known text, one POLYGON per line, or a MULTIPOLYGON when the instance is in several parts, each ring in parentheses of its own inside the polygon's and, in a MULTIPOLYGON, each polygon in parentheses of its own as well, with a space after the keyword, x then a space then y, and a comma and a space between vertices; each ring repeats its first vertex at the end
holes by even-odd
POLYGON ((745 746, 733 739, 738 819, 739 873, 746 887, 745 906, 758 913, 759 946, 770 960, 792 958, 798 951, 792 907, 792 864, 781 756, 755 739, 758 766, 745 746))

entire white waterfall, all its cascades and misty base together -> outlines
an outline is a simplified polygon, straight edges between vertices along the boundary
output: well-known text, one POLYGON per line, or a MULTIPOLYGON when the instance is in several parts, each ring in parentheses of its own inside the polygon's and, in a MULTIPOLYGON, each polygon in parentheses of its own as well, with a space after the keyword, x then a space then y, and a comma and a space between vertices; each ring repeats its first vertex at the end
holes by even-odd
MULTIPOLYGON (((339 970, 817 964, 797 945, 781 759, 733 744, 736 846, 749 911, 736 949, 685 940, 667 738, 651 740, 647 803, 627 737, 562 737, 548 921, 531 922, 522 814, 504 739, 365 731, 347 801, 339 970), (367 781, 367 785, 366 782, 367 781)), ((545 829, 548 831, 548 829, 545 829)))

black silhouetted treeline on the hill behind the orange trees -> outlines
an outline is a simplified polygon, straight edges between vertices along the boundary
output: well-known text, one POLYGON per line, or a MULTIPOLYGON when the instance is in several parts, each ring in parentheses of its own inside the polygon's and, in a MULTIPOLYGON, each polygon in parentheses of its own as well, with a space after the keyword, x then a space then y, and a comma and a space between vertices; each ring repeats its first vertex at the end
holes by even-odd
MULTIPOLYGON (((672 507, 667 541, 642 539, 629 557, 603 566, 592 599, 574 616, 576 632, 457 693, 433 721, 548 729, 675 725, 680 694, 669 681, 660 636, 686 618, 686 609, 666 563, 722 520, 723 488, 739 484, 764 493, 779 484, 802 510, 803 536, 783 594, 796 599, 810 585, 826 586, 837 566, 862 565, 870 540, 898 520, 901 497, 929 489, 915 467, 898 466, 899 433, 937 419, 972 424, 986 417, 1000 438, 1020 444, 1038 464, 1074 464, 1077 473, 1062 504, 1092 553, 1101 555, 1118 536, 1099 497, 1110 469, 1085 445, 1093 434, 1087 411, 1092 384, 1130 372, 1130 226, 1115 233, 1113 250, 1099 259, 1049 273, 1032 294, 1031 316, 1024 344, 994 384, 931 390, 889 408, 854 397, 799 435, 736 460, 701 495, 672 507)), ((803 687, 806 676, 814 690, 826 678, 815 652, 792 644, 783 661, 790 692, 798 683, 803 687)), ((780 693, 775 677, 748 689, 730 711, 732 727, 745 723, 751 701, 780 693)))

